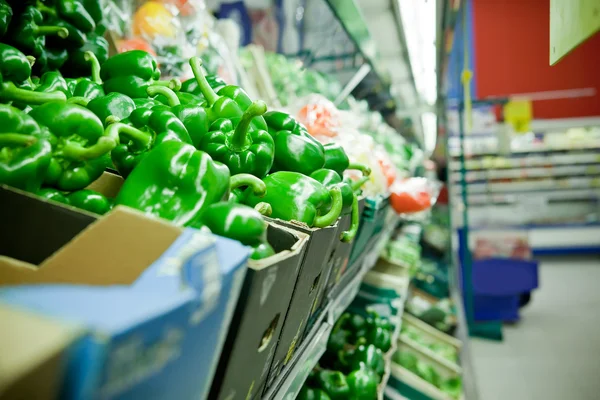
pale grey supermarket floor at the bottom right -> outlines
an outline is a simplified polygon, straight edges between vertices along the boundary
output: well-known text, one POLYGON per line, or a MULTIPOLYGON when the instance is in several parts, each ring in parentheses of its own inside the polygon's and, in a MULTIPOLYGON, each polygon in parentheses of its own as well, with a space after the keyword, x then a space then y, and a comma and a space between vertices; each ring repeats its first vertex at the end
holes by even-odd
POLYGON ((521 322, 471 341, 480 400, 600 398, 600 258, 540 261, 521 322))

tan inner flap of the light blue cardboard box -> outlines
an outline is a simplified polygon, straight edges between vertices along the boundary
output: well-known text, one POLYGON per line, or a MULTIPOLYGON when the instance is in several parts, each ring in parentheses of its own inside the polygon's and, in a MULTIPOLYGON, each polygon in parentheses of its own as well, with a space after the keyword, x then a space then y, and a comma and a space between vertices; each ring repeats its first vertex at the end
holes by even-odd
POLYGON ((167 221, 117 207, 42 262, 38 271, 0 258, 0 285, 131 284, 181 232, 167 221))

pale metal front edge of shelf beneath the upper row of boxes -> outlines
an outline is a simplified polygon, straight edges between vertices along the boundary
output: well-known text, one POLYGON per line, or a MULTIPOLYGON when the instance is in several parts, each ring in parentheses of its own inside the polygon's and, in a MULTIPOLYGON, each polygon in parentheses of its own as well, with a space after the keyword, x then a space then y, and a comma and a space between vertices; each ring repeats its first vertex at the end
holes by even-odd
POLYGON ((319 316, 315 326, 304 339, 293 356, 290 364, 284 369, 271 389, 263 396, 265 400, 295 399, 310 371, 325 353, 325 347, 333 324, 356 297, 365 274, 375 265, 377 257, 392 235, 394 223, 388 223, 379 240, 368 247, 349 271, 332 290, 330 301, 319 316), (357 265, 358 264, 358 265, 357 265))

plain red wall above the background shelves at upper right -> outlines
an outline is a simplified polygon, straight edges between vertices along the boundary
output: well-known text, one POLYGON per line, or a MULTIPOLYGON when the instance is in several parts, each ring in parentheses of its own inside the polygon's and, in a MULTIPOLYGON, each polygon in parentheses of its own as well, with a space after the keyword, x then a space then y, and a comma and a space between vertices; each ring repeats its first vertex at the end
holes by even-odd
POLYGON ((549 0, 471 0, 477 98, 589 89, 592 97, 535 101, 534 118, 600 116, 600 34, 550 66, 549 0))

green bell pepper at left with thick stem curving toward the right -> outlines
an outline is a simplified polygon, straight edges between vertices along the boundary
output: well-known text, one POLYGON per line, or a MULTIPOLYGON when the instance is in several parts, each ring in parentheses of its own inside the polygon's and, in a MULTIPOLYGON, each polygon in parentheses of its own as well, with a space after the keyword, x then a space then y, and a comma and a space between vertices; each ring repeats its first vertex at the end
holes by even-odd
POLYGON ((53 154, 45 183, 61 190, 83 189, 110 164, 109 153, 118 143, 105 132, 90 110, 76 104, 50 102, 29 113, 51 132, 53 154))

